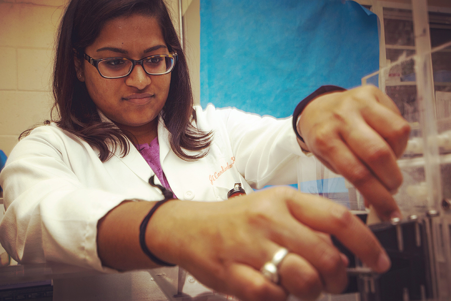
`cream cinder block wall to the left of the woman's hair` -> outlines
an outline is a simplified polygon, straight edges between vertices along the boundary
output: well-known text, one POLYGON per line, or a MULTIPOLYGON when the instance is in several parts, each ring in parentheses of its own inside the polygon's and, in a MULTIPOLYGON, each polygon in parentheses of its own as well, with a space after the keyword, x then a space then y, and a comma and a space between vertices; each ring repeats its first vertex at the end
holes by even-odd
POLYGON ((0 149, 50 117, 55 34, 65 0, 0 0, 0 149))

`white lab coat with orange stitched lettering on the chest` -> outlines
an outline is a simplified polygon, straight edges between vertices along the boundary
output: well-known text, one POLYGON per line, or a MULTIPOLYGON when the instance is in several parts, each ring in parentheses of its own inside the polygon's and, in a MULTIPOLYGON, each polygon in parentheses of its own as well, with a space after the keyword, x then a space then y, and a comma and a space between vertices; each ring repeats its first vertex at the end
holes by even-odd
MULTIPOLYGON (((212 105, 204 111, 196 107, 196 113, 197 126, 212 130, 214 140, 208 155, 195 162, 178 158, 168 131, 162 122, 158 126, 161 166, 177 198, 221 201, 235 183, 247 193, 297 183, 298 159, 307 157, 291 118, 212 105)), ((17 144, 0 175, 6 209, 0 241, 19 262, 108 271, 97 255, 97 222, 124 200, 162 199, 148 184, 152 175, 134 147, 123 158, 117 152, 101 162, 97 150, 73 134, 55 125, 38 127, 17 144)))

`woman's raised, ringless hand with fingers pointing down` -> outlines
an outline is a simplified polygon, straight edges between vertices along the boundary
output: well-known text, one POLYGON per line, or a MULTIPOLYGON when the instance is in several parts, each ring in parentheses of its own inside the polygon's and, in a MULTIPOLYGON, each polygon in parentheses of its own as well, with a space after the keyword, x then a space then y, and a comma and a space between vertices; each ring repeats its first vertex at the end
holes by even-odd
POLYGON ((307 148, 350 181, 382 219, 400 217, 392 194, 402 183, 396 163, 410 126, 394 102, 374 86, 318 96, 299 117, 307 148))

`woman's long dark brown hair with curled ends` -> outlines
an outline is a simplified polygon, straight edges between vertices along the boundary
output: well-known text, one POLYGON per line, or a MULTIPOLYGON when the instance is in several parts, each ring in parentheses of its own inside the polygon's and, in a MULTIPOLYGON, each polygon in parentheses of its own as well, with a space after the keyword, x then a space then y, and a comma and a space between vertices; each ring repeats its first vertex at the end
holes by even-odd
POLYGON ((193 125, 195 112, 186 59, 163 0, 72 0, 69 3, 59 28, 53 74, 52 110, 56 109, 59 115, 55 122, 98 149, 102 161, 108 160, 118 147, 122 156, 128 153, 129 140, 136 139, 111 123, 101 122, 85 83, 77 79, 74 55, 83 54, 94 43, 107 21, 134 14, 156 18, 169 51, 178 55, 162 110, 171 148, 186 161, 202 158, 208 152, 212 133, 193 125), (185 150, 196 154, 188 155, 185 150))

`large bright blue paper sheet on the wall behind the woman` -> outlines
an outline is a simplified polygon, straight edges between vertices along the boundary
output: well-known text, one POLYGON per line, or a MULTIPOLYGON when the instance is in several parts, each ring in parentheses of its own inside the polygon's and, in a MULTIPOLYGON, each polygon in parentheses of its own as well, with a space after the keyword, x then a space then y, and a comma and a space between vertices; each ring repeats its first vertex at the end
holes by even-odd
POLYGON ((287 117, 379 69, 377 17, 353 1, 200 0, 200 22, 203 106, 287 117))

